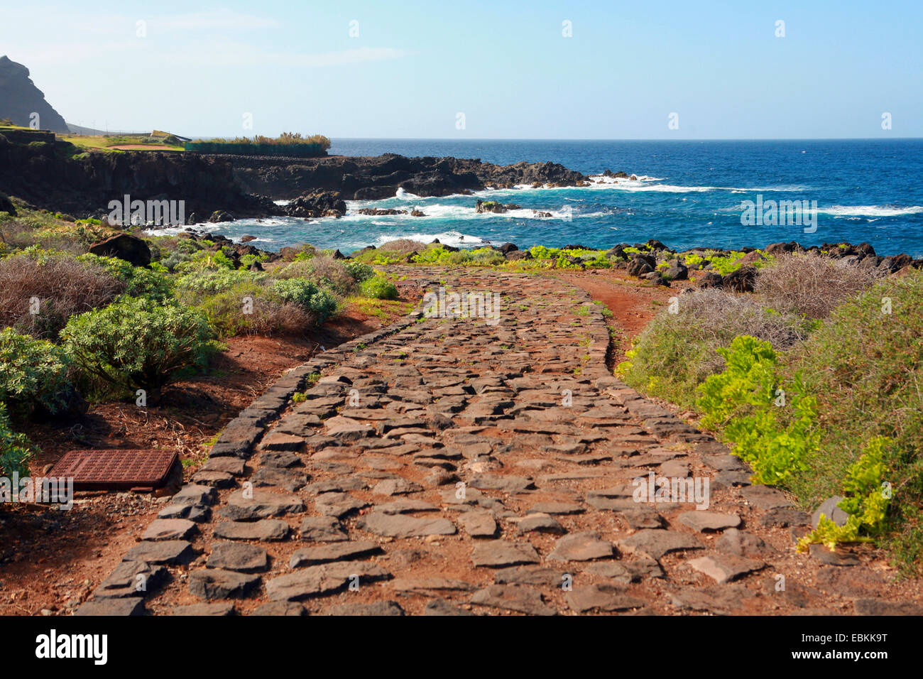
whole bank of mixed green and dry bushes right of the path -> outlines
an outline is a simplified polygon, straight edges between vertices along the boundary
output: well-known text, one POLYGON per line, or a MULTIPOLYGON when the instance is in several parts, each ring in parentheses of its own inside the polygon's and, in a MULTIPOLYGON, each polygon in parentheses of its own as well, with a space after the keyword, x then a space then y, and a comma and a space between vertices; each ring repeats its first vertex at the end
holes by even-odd
POLYGON ((753 482, 808 510, 845 499, 801 540, 874 541, 907 575, 923 557, 923 272, 882 276, 837 260, 780 255, 752 295, 677 297, 617 373, 701 414, 749 462, 753 482))

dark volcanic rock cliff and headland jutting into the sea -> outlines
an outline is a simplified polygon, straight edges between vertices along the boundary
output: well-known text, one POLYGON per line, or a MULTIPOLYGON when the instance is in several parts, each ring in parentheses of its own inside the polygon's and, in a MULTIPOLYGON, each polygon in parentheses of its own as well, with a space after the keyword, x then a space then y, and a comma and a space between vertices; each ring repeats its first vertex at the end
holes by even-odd
POLYGON ((109 212, 109 201, 123 200, 126 194, 131 200, 184 200, 186 216, 195 214, 203 220, 217 210, 234 217, 282 214, 270 199, 291 200, 318 191, 339 194, 324 198, 332 206, 342 199, 389 198, 399 188, 417 196, 446 196, 536 182, 573 186, 585 179, 554 163, 500 166, 393 153, 318 159, 171 152, 92 152, 72 157, 77 149, 71 144, 30 143, 30 134, 10 139, 0 134, 0 191, 75 216, 109 212))

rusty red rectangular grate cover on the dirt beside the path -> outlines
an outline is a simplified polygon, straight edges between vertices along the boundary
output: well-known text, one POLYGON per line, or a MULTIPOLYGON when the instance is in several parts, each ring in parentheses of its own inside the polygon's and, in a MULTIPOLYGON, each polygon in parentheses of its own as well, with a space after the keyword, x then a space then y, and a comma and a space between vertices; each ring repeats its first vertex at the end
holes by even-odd
POLYGON ((76 491, 120 491, 159 488, 179 459, 168 450, 72 450, 48 476, 74 479, 76 491))

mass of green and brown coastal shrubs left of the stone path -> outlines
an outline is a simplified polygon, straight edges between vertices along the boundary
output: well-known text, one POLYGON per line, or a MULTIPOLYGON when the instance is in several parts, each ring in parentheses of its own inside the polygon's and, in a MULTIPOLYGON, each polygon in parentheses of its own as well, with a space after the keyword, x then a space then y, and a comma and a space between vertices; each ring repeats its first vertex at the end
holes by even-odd
POLYGON ((123 233, 99 220, 15 198, 9 207, 0 212, 0 475, 28 472, 35 447, 18 431, 30 418, 135 400, 138 390, 159 399, 209 370, 236 335, 305 335, 349 305, 373 315, 402 304, 390 301, 398 291, 387 275, 330 251, 282 258, 186 233, 139 239, 150 264, 137 266, 89 251, 123 233))

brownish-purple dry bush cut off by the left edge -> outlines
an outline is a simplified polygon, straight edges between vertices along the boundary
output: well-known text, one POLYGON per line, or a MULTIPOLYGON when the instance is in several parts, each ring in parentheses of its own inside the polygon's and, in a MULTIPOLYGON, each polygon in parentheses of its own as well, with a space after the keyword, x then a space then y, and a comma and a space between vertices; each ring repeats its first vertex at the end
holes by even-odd
POLYGON ((62 256, 0 260, 0 328, 56 339, 74 314, 102 307, 126 284, 93 264, 62 256))

